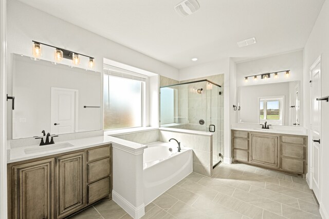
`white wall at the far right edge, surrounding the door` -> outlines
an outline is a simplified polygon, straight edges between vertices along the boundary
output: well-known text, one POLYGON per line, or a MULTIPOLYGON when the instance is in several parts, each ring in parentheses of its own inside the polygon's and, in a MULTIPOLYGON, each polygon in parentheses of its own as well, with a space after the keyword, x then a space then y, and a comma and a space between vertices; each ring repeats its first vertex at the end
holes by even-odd
MULTIPOLYGON (((321 55, 322 74, 322 96, 329 95, 329 1, 326 0, 322 6, 318 19, 309 35, 304 48, 304 127, 309 128, 310 112, 310 89, 309 89, 309 68, 321 55)), ((323 218, 329 218, 329 103, 322 104, 322 191, 320 212, 323 218)), ((311 138, 309 137, 309 140, 311 138)), ((308 147, 310 150, 311 147, 308 147)), ((309 167, 310 165, 308 165, 309 167)), ((308 170, 310 172, 310 170, 308 170)))

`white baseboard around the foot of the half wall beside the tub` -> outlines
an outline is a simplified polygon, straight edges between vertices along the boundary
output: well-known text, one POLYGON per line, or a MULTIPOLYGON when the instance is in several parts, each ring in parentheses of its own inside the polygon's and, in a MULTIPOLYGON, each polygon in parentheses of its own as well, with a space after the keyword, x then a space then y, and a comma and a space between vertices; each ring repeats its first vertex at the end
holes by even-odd
POLYGON ((123 210, 125 210, 134 219, 139 219, 145 214, 144 204, 135 207, 128 202, 124 197, 119 195, 116 191, 112 190, 112 200, 117 203, 123 210))

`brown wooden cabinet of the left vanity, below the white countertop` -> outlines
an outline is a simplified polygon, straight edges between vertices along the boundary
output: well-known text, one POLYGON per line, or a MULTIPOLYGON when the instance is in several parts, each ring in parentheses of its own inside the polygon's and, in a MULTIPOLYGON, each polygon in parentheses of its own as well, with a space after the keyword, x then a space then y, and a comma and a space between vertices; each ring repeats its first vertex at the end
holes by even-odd
POLYGON ((65 218, 111 191, 111 144, 8 164, 8 218, 65 218))

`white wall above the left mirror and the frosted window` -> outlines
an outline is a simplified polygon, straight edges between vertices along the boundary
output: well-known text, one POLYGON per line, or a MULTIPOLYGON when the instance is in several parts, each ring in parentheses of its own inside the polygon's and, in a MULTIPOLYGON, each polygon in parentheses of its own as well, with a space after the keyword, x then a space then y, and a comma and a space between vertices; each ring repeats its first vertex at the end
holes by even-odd
MULTIPOLYGON (((103 72, 103 58, 111 59, 159 75, 178 79, 178 69, 154 58, 124 47, 95 33, 72 25, 19 1, 8 2, 8 54, 31 56, 32 40, 58 46, 95 57, 95 71, 103 72)), ((106 27, 104 27, 106 28, 106 27)), ((53 61, 52 49, 44 47, 42 59, 53 61)), ((63 64, 70 65, 64 59, 63 64)), ((81 68, 87 68, 86 58, 81 57, 81 68)), ((7 93, 11 95, 11 60, 7 61, 7 93)), ((7 106, 11 118, 10 106, 7 106)), ((11 130, 11 123, 7 126, 11 130)), ((7 137, 10 138, 10 136, 7 137)))

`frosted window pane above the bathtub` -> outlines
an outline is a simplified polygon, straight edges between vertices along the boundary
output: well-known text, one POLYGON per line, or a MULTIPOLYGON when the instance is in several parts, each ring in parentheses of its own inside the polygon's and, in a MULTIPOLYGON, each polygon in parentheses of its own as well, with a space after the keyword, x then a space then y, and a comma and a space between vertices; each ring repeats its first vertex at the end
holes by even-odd
POLYGON ((104 75, 104 130, 142 126, 143 83, 104 75))

